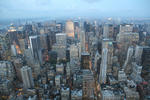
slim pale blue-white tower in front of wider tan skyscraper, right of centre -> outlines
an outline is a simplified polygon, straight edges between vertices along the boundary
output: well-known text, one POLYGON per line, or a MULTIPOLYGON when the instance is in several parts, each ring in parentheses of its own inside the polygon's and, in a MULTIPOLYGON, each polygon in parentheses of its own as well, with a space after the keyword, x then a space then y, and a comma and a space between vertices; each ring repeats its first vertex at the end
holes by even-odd
POLYGON ((108 49, 103 48, 102 61, 101 61, 101 67, 100 67, 100 76, 99 76, 100 83, 106 83, 107 62, 108 62, 107 56, 108 56, 108 49))

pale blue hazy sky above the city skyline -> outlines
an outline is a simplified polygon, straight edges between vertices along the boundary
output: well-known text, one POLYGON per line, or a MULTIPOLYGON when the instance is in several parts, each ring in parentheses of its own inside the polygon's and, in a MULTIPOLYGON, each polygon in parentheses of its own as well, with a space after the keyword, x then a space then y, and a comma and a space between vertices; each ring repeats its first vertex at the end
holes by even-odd
POLYGON ((0 0, 0 18, 150 17, 150 0, 0 0))

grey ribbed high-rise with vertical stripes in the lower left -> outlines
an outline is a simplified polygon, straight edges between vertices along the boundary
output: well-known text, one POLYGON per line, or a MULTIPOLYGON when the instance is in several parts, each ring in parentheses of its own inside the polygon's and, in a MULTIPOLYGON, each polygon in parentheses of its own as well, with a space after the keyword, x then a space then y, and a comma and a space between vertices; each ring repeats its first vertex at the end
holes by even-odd
POLYGON ((28 66, 23 66, 21 68, 21 76, 24 85, 24 89, 33 88, 34 82, 32 78, 32 70, 28 66))

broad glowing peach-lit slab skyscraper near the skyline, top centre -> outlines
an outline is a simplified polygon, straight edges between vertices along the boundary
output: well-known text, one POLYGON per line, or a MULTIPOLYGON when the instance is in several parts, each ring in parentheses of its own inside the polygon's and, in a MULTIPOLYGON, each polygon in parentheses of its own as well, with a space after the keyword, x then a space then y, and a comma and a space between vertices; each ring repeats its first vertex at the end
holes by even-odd
POLYGON ((74 23, 71 20, 68 20, 66 22, 65 31, 66 31, 68 37, 74 38, 74 23))

